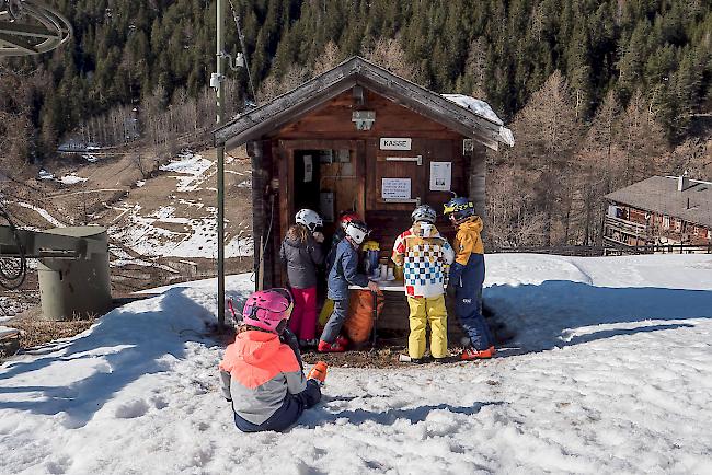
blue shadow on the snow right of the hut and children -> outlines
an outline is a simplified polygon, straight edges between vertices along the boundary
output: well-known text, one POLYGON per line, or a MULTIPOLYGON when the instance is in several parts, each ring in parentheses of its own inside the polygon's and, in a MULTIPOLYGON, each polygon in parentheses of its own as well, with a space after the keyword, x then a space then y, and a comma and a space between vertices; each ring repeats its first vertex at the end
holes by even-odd
POLYGON ((712 317, 709 290, 611 288, 547 280, 540 285, 492 286, 484 289, 484 297, 494 313, 495 333, 504 327, 514 334, 507 346, 519 349, 509 355, 693 327, 684 321, 712 317), (599 325, 619 327, 596 328, 599 325))

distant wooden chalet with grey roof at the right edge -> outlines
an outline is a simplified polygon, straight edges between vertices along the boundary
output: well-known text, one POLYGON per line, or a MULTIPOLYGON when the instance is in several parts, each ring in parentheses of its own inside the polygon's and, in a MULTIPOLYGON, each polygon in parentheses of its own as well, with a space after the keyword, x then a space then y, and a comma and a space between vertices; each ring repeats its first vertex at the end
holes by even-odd
POLYGON ((608 246, 712 244, 712 183, 652 176, 606 195, 604 241, 608 246))

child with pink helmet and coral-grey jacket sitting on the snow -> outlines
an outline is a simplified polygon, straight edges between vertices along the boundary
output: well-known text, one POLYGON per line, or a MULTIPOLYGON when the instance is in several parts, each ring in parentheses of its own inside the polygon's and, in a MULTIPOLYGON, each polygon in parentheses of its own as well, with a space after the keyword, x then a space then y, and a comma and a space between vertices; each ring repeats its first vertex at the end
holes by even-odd
POLYGON ((222 394, 243 432, 285 430, 321 399, 319 382, 305 378, 299 349, 279 340, 292 308, 286 289, 250 296, 243 325, 219 364, 222 394))

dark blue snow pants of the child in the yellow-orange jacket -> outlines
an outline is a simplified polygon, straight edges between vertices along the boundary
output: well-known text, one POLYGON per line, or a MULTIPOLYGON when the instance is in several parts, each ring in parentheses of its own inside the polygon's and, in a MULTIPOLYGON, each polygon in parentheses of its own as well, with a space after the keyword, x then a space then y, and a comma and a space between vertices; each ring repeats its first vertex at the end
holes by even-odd
POLYGON ((472 347, 484 350, 494 345, 484 316, 482 316, 482 285, 484 283, 484 255, 471 254, 467 266, 460 275, 460 285, 456 282, 455 313, 460 325, 470 337, 472 347))

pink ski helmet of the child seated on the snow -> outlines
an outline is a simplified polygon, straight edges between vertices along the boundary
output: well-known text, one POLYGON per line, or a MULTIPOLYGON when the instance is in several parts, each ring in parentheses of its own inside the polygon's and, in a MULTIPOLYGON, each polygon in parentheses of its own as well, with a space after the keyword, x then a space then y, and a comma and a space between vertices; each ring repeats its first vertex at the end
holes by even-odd
POLYGON ((261 290, 248 298, 242 309, 242 320, 266 332, 282 333, 294 306, 294 299, 287 289, 261 290))

